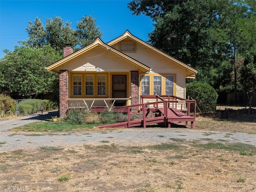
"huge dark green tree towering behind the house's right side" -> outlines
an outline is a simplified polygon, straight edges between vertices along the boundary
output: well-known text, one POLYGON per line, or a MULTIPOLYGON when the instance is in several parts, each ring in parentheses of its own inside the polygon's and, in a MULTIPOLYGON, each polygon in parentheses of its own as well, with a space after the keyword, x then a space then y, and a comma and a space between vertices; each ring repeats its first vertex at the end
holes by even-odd
POLYGON ((255 50, 255 0, 132 0, 128 7, 153 19, 149 42, 195 67, 196 80, 234 90, 242 77, 236 74, 238 55, 255 50))

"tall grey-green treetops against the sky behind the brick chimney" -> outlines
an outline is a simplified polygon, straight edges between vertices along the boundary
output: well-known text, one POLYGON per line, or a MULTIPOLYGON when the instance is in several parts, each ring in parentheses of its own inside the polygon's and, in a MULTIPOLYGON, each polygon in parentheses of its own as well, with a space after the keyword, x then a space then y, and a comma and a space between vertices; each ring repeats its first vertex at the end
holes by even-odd
POLYGON ((92 43, 96 37, 101 37, 100 28, 96 26, 96 20, 92 16, 83 16, 77 22, 76 30, 72 24, 60 17, 46 19, 45 26, 39 18, 34 22, 29 21, 26 27, 28 32, 28 44, 30 47, 42 48, 49 44, 60 54, 63 53, 64 44, 71 44, 74 49, 82 48, 92 43))

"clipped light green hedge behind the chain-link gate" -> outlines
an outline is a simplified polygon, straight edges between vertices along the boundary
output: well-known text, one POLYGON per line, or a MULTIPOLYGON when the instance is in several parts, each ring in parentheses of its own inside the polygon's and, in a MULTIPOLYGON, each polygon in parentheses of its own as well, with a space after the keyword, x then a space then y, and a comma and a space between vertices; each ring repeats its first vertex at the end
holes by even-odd
POLYGON ((41 108, 41 100, 22 100, 17 104, 19 114, 28 115, 34 114, 41 108))

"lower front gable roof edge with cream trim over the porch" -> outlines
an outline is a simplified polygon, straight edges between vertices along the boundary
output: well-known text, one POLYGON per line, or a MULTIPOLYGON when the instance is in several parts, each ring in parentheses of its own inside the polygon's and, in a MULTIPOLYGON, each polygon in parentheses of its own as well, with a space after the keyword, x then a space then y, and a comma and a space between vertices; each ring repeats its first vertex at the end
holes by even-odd
POLYGON ((81 54, 85 53, 88 50, 91 50, 97 46, 101 46, 103 48, 106 48, 106 50, 111 51, 112 53, 124 58, 125 60, 127 60, 128 62, 131 62, 132 64, 136 65, 136 67, 138 67, 138 69, 140 69, 142 72, 149 72, 150 68, 144 64, 142 64, 141 62, 131 58, 130 56, 123 54, 122 52, 112 48, 111 46, 109 46, 108 44, 105 44, 100 38, 96 38, 96 40, 89 44, 88 46, 58 60, 57 62, 54 62, 53 64, 50 64, 49 66, 46 67, 46 69, 48 71, 53 71, 53 72, 59 72, 61 70, 61 66, 62 64, 72 60, 73 58, 76 58, 78 56, 80 56, 81 54))

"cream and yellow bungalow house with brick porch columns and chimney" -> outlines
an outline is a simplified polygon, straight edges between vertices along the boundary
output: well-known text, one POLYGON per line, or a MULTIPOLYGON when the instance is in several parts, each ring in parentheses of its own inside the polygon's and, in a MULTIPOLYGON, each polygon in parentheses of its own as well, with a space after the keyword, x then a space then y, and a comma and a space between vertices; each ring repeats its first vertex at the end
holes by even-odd
POLYGON ((186 78, 197 74, 128 30, 108 43, 97 38, 76 52, 66 45, 64 58, 46 69, 60 74, 60 117, 78 104, 109 108, 139 104, 142 95, 186 98, 186 78))

